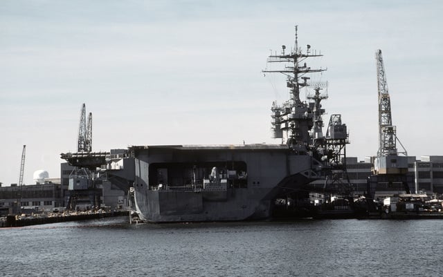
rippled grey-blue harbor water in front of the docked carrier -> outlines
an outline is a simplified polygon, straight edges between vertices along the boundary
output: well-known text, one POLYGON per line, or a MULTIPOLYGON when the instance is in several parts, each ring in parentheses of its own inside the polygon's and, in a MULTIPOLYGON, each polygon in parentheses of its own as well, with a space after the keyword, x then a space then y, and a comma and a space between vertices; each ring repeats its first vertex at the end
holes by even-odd
POLYGON ((0 229, 1 276, 443 276, 442 220, 127 220, 0 229))

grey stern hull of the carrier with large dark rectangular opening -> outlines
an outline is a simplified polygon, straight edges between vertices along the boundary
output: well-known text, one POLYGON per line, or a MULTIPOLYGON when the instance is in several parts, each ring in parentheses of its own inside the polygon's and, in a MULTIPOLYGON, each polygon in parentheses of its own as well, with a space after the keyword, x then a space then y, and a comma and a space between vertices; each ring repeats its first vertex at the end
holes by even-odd
POLYGON ((266 219, 278 195, 316 178, 316 161, 284 145, 136 146, 134 156, 147 222, 266 219))

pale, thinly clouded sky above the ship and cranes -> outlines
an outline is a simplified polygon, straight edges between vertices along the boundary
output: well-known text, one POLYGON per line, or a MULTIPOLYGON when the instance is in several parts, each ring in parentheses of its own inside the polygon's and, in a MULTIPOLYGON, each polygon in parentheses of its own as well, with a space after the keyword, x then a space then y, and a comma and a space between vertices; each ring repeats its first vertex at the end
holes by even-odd
POLYGON ((443 155, 442 12, 440 0, 0 1, 0 182, 19 182, 24 144, 24 184, 38 169, 60 178, 82 103, 93 151, 280 143, 270 108, 285 79, 261 71, 295 25, 300 46, 325 55, 323 120, 342 115, 347 156, 377 153, 377 49, 401 143, 443 155))

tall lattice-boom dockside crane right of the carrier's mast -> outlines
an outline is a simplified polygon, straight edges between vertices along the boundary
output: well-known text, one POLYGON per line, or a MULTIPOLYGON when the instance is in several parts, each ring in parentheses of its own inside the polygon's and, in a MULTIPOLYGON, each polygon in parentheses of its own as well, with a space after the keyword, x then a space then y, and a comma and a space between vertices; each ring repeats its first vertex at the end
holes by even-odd
POLYGON ((372 157, 372 175, 368 178, 370 198, 377 195, 388 196, 401 192, 410 193, 408 176, 408 157, 406 149, 397 137, 397 128, 392 125, 390 95, 381 50, 375 53, 377 61, 377 85, 379 95, 379 149, 377 156, 372 157), (403 151, 397 150, 397 142, 403 151))

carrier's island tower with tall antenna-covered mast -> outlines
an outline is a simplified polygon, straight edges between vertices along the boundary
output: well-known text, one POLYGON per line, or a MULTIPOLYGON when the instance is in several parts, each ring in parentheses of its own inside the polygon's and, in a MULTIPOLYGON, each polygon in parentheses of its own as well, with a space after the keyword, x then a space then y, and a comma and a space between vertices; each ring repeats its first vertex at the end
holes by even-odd
POLYGON ((290 90, 290 99, 281 105, 273 102, 272 131, 274 138, 281 138, 282 144, 287 144, 294 151, 306 153, 311 146, 323 144, 323 120, 325 110, 321 108, 321 100, 327 99, 327 93, 320 93, 327 86, 326 82, 310 82, 310 73, 321 73, 326 69, 311 68, 307 59, 321 57, 320 52, 311 50, 302 51, 298 46, 298 33, 296 26, 295 45, 292 50, 286 52, 286 46, 282 46, 282 52, 270 55, 268 63, 282 63, 284 68, 277 70, 263 70, 264 73, 282 73, 287 76, 287 87, 290 90), (309 103, 300 99, 303 88, 311 88, 307 95, 309 103))

